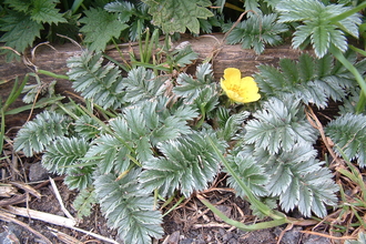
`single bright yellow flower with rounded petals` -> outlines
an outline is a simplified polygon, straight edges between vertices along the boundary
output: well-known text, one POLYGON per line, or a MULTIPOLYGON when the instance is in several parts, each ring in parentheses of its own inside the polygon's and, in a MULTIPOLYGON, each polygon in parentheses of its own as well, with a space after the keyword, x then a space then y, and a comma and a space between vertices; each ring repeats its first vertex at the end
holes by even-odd
POLYGON ((247 103, 261 99, 260 89, 254 79, 251 77, 242 78, 241 71, 236 68, 224 70, 224 79, 221 79, 221 88, 235 102, 247 103))

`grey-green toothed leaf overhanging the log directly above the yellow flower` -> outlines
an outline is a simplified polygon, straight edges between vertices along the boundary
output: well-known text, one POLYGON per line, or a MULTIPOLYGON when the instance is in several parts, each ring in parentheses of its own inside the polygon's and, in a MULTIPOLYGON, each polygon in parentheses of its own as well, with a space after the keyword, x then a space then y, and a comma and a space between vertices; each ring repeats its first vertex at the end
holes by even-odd
MULTIPOLYGON (((245 1, 246 2, 246 1, 245 1)), ((242 43, 243 49, 253 48, 257 54, 264 51, 265 44, 276 45, 282 42, 279 33, 287 31, 283 23, 276 22, 277 14, 252 14, 240 22, 227 35, 230 44, 242 43)))

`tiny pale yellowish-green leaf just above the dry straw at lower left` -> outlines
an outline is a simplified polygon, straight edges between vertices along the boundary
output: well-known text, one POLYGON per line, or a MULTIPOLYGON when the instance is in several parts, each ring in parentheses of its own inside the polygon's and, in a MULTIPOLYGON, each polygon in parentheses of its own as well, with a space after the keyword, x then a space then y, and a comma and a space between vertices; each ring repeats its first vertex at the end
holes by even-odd
POLYGON ((96 203, 96 194, 94 187, 83 189, 72 203, 77 211, 77 217, 90 216, 93 205, 96 203))

